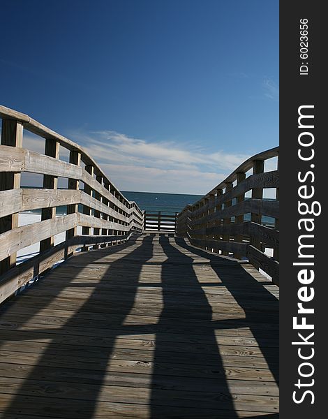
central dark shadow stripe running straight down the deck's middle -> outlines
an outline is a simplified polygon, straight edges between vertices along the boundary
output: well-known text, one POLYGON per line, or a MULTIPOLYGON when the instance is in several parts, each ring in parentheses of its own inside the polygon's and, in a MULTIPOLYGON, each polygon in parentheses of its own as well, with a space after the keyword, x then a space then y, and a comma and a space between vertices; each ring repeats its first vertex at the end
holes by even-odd
POLYGON ((163 311, 157 325, 151 418, 237 418, 210 324, 211 306, 193 270, 193 258, 172 246, 167 237, 161 237, 160 244, 167 260, 162 267, 163 311), (184 292, 190 287, 192 295, 184 292), (202 322, 201 339, 199 323, 193 330, 191 320, 202 322), (170 376, 170 392, 161 387, 165 374, 170 376), (215 413, 215 409, 222 411, 215 413))

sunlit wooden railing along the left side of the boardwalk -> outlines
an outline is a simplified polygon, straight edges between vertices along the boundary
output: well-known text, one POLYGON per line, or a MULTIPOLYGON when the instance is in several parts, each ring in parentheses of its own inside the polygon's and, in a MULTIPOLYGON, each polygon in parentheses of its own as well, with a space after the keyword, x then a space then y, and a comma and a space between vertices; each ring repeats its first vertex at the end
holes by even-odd
POLYGON ((142 233, 144 214, 107 178, 94 159, 75 142, 15 110, 0 105, 0 302, 31 279, 46 272, 78 248, 82 251, 125 242, 142 233), (45 143, 40 154, 24 148, 24 130, 45 143), (69 163, 60 147, 69 150, 69 163), (43 175, 43 189, 22 189, 22 172, 43 175), (68 189, 57 189, 58 177, 68 189), (83 189, 82 189, 83 186, 83 189), (56 216, 56 207, 67 206, 56 216), (83 212, 79 212, 79 205, 83 212), (41 210, 41 221, 19 226, 22 211, 41 210), (82 226, 82 235, 77 227, 82 226), (54 246, 54 236, 66 240, 54 246), (17 265, 17 251, 40 242, 40 253, 17 265))

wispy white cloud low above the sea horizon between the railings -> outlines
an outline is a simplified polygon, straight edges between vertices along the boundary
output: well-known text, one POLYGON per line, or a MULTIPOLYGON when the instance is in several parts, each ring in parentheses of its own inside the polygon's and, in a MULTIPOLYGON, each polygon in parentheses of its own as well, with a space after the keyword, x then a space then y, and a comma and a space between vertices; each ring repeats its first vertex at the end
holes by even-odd
MULTIPOLYGON (((245 154, 174 141, 154 142, 116 131, 71 131, 70 138, 94 157, 121 190, 207 193, 239 164, 245 154)), ((42 140, 27 136, 24 147, 43 152, 42 140)))

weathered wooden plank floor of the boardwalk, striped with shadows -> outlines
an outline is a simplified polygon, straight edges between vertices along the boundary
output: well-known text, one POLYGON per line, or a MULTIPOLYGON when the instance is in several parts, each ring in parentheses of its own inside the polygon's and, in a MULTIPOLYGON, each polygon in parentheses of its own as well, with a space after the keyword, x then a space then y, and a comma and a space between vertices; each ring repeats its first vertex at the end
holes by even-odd
POLYGON ((77 253, 0 309, 0 417, 278 417, 278 288, 176 237, 77 253))

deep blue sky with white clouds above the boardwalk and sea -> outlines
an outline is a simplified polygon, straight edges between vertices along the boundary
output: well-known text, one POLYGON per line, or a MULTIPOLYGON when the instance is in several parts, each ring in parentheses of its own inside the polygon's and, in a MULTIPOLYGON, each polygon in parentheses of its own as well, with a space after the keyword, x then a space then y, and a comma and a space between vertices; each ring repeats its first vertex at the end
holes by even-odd
POLYGON ((122 190, 206 193, 278 145, 278 0, 13 0, 1 13, 0 103, 87 148, 122 190))

